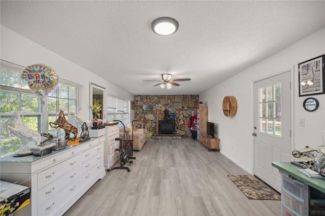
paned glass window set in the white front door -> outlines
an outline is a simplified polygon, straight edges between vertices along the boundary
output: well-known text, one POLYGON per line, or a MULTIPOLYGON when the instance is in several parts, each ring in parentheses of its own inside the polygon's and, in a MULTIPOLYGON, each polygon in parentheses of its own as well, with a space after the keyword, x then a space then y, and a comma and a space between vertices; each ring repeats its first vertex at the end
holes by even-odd
POLYGON ((281 136, 281 83, 259 88, 259 132, 281 136))

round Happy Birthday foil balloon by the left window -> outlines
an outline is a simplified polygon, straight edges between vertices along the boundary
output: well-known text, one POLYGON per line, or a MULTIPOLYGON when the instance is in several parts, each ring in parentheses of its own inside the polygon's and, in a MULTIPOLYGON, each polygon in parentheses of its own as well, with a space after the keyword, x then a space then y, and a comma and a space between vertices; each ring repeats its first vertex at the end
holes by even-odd
POLYGON ((30 90, 41 98, 43 105, 45 96, 56 87, 58 82, 58 76, 54 70, 44 64, 27 66, 21 78, 27 81, 30 90))

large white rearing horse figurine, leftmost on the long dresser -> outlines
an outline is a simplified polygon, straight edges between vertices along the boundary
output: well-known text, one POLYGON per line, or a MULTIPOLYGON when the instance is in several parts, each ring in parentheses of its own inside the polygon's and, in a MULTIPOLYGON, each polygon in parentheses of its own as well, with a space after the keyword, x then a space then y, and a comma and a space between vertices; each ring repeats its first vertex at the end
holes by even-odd
POLYGON ((9 135, 14 134, 20 138, 20 149, 14 154, 14 157, 32 155, 28 147, 29 141, 34 141, 36 146, 41 143, 41 134, 27 128, 23 124, 18 111, 12 114, 9 123, 6 125, 6 130, 9 135))

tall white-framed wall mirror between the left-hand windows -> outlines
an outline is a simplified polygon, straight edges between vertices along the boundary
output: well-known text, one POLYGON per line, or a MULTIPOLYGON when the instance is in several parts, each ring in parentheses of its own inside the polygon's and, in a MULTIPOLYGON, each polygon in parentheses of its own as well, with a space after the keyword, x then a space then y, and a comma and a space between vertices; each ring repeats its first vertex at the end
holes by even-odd
POLYGON ((99 119, 103 119, 104 116, 107 114, 107 111, 104 109, 106 98, 104 97, 105 95, 105 88, 99 85, 96 85, 94 83, 90 83, 90 89, 89 89, 89 104, 90 104, 90 118, 93 120, 94 116, 96 116, 99 119), (94 105, 94 100, 96 100, 95 103, 99 103, 100 109, 101 110, 96 110, 93 112, 93 105, 94 105))

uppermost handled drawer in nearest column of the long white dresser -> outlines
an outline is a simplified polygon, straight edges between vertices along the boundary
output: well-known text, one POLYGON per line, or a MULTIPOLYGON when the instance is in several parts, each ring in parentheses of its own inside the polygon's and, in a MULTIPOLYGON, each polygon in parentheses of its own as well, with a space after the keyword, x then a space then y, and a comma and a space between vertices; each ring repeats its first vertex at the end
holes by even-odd
POLYGON ((81 164, 80 156, 77 155, 73 158, 70 158, 66 161, 58 163, 57 165, 44 170, 37 174, 38 190, 47 186, 48 184, 54 182, 56 179, 61 177, 64 173, 79 167, 81 164))

